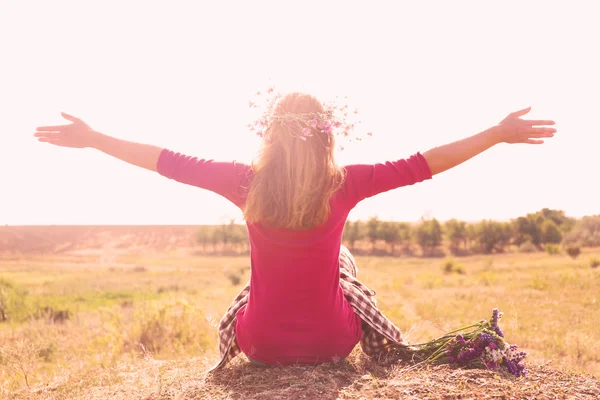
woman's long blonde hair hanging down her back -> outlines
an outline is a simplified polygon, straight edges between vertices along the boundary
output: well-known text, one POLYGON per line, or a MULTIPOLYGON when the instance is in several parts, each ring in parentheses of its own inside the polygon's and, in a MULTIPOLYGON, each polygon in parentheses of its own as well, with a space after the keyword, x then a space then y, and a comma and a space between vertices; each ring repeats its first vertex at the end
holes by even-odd
POLYGON ((244 206, 246 222, 308 230, 327 221, 329 200, 343 183, 345 170, 335 162, 334 137, 316 132, 301 140, 298 132, 306 123, 294 118, 323 113, 323 105, 304 93, 290 93, 274 107, 275 118, 252 163, 254 176, 244 206))

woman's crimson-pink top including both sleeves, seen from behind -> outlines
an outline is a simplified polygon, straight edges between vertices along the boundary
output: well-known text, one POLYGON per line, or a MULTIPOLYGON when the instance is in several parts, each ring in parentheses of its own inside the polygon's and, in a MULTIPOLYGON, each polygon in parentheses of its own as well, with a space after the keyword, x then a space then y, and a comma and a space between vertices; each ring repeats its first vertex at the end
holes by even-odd
MULTIPOLYGON (((159 156, 157 170, 218 193, 240 208, 252 179, 249 165, 167 149, 159 156)), ((269 365, 330 362, 350 354, 362 330, 339 285, 338 258, 348 213, 365 198, 426 179, 431 179, 431 171, 420 153, 393 162, 349 165, 324 225, 290 231, 247 224, 251 290, 236 322, 242 351, 269 365)))

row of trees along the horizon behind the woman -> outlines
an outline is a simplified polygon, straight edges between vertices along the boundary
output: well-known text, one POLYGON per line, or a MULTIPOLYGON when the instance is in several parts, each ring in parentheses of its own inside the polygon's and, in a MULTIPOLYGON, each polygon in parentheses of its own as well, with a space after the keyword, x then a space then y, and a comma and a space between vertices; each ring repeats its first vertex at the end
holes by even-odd
MULTIPOLYGON (((249 251, 245 225, 230 221, 204 226, 197 234, 203 252, 249 251)), ((447 249, 454 255, 490 254, 506 251, 557 251, 562 246, 600 246, 600 215, 579 220, 564 211, 544 208, 510 221, 483 220, 468 223, 435 218, 418 223, 347 221, 343 242, 352 251, 372 254, 436 255, 447 249), (554 250, 552 250, 554 249, 554 250)))

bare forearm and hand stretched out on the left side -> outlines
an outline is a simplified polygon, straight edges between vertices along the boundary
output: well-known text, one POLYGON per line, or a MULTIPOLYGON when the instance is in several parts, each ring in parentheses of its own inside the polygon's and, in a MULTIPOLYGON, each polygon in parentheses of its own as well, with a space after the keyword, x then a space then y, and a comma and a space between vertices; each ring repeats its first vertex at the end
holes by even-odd
POLYGON ((129 142, 94 131, 88 124, 62 113, 63 118, 71 121, 69 125, 41 126, 36 129, 35 137, 40 142, 72 148, 94 148, 129 164, 156 171, 161 147, 149 144, 129 142))

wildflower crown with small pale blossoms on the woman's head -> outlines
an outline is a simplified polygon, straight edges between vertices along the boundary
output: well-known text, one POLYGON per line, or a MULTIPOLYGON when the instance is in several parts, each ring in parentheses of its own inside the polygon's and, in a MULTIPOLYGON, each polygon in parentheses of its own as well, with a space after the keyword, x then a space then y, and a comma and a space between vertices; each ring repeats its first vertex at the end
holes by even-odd
MULTIPOLYGON (((323 103, 324 111, 321 113, 276 113, 275 107, 283 97, 281 93, 275 92, 274 88, 270 87, 265 94, 257 92, 256 97, 255 101, 249 102, 249 106, 259 111, 262 110, 262 113, 247 127, 251 132, 266 140, 269 139, 265 137, 266 131, 275 123, 285 125, 293 136, 303 141, 317 137, 327 149, 330 147, 330 138, 333 135, 349 141, 362 139, 360 136, 352 134, 356 125, 361 122, 351 121, 352 117, 358 114, 358 110, 350 112, 347 104, 323 103), (261 101, 266 105, 259 105, 261 101)), ((367 133, 367 136, 372 136, 372 133, 367 133)), ((343 146, 340 146, 340 150, 343 150, 343 146)))

